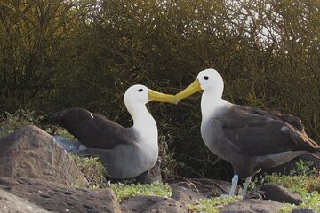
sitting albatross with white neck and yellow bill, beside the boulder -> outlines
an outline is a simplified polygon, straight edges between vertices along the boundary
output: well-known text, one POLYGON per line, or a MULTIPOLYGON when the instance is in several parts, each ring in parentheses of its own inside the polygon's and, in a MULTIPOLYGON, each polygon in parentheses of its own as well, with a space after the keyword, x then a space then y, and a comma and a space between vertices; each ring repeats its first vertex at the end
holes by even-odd
POLYGON ((74 135, 86 153, 98 155, 113 179, 137 177, 151 169, 158 157, 156 121, 148 112, 148 101, 173 103, 174 96, 133 85, 124 93, 124 104, 133 125, 124 128, 101 114, 84 108, 69 108, 54 114, 49 122, 74 135))

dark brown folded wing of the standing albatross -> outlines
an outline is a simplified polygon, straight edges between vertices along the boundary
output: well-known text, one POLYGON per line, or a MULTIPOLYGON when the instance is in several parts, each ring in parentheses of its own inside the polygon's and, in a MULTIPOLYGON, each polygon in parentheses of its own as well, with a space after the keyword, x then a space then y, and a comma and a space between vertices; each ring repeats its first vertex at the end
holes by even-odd
POLYGON ((300 119, 289 114, 235 105, 227 115, 217 120, 224 137, 238 146, 242 154, 264 155, 298 150, 316 152, 319 149, 308 138, 300 119))

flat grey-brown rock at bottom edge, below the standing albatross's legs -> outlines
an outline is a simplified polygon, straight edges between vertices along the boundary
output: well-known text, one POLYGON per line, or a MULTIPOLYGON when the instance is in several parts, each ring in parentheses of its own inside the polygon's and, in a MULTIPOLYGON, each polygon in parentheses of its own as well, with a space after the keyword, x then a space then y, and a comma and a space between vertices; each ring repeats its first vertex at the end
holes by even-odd
POLYGON ((283 207, 280 202, 247 199, 229 203, 220 209, 220 213, 278 213, 283 207))

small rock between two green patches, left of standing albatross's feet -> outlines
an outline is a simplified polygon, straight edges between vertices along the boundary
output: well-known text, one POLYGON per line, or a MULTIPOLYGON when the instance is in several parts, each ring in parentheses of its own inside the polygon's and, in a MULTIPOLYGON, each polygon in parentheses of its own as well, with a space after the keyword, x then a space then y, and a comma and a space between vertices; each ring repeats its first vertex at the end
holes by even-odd
POLYGON ((204 195, 196 192, 196 188, 193 185, 180 186, 180 185, 171 185, 172 186, 172 199, 180 201, 184 206, 189 204, 196 204, 196 201, 204 199, 204 195))

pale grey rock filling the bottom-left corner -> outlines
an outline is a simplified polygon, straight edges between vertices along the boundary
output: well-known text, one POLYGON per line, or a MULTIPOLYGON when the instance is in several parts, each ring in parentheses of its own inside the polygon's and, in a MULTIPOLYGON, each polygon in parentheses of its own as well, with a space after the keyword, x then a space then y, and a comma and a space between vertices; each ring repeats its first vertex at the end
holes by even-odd
POLYGON ((46 213, 47 210, 36 206, 34 203, 22 199, 12 193, 0 190, 0 209, 2 213, 46 213))

